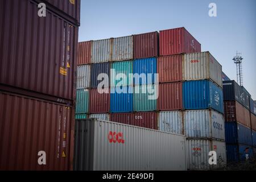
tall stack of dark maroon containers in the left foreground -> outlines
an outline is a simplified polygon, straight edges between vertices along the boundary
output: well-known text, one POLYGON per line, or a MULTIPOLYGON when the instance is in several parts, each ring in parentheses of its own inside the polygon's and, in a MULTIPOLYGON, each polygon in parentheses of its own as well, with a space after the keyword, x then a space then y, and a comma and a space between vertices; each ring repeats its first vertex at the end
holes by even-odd
POLYGON ((1 1, 0 12, 0 170, 72 169, 80 1, 1 1))

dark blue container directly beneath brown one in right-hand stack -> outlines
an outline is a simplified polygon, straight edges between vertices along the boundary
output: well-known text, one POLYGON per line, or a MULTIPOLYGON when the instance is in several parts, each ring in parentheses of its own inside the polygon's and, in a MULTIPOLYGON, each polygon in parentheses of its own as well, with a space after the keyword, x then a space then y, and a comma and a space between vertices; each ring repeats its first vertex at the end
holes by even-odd
POLYGON ((253 145, 251 129, 237 122, 225 122, 226 143, 253 145))

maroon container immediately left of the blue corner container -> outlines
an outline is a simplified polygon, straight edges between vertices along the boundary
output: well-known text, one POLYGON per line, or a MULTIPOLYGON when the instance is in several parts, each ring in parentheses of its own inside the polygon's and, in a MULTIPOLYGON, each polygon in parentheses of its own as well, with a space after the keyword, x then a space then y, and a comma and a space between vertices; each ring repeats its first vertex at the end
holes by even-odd
POLYGON ((182 109, 182 82, 159 84, 158 110, 182 109))

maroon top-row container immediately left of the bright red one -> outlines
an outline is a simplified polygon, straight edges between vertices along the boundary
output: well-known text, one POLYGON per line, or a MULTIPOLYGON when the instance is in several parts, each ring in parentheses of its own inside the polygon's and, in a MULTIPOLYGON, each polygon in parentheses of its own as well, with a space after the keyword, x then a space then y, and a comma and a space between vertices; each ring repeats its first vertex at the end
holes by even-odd
POLYGON ((134 59, 158 57, 158 45, 158 32, 134 35, 134 59))

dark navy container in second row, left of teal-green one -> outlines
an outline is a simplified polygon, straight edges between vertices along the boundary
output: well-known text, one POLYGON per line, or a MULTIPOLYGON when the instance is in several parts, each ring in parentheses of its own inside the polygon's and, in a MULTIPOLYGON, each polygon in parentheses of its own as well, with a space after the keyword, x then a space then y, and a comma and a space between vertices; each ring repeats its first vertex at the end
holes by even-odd
POLYGON ((98 85, 104 80, 108 85, 104 87, 109 87, 109 76, 110 76, 110 63, 98 63, 92 65, 92 77, 90 81, 90 86, 92 88, 97 88, 98 85), (102 74, 102 75, 100 75, 102 74), (100 76, 100 77, 98 77, 100 76), (107 77, 108 76, 108 77, 107 77), (99 78, 99 80, 98 80, 99 78))

